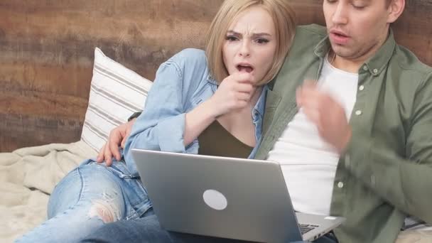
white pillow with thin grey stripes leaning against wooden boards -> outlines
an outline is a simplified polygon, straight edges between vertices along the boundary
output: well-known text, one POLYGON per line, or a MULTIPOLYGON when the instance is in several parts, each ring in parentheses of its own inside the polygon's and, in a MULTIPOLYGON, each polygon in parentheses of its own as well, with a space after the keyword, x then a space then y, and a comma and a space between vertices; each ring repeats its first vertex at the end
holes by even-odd
POLYGON ((114 127, 144 107, 152 82, 95 48, 89 106, 81 140, 99 151, 114 127))

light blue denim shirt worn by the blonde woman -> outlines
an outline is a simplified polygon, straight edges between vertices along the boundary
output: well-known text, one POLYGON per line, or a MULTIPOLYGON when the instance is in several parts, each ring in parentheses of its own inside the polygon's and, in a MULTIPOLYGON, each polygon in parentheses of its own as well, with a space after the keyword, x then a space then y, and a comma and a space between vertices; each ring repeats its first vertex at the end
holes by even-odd
MULTIPOLYGON (((186 147, 183 144, 185 114, 209 99, 216 92, 217 85, 210 76, 203 50, 185 49, 162 63, 148 92, 144 111, 136 119, 124 146, 124 159, 132 175, 138 173, 131 148, 198 153, 198 139, 186 147)), ((249 158, 254 158, 261 140, 266 92, 264 87, 252 112, 257 146, 249 158)))

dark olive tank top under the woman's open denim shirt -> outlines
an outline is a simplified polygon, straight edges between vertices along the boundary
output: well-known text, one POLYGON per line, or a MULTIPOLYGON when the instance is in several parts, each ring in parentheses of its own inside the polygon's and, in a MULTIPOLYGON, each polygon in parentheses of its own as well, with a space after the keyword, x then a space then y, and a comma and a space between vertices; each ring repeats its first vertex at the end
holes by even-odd
POLYGON ((213 121, 207 126, 198 136, 198 141, 200 155, 247 158, 254 149, 230 134, 219 121, 213 121))

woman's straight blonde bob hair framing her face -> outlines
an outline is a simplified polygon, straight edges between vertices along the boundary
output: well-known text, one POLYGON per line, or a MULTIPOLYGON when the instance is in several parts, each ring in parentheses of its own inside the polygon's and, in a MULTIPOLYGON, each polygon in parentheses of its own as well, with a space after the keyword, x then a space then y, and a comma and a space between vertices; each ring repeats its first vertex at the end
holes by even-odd
POLYGON ((239 13, 252 6, 260 6, 268 11, 276 29, 276 52, 273 65, 257 85, 264 85, 273 80, 284 64, 296 30, 295 13, 287 0, 225 0, 217 11, 205 38, 205 53, 212 77, 217 82, 227 77, 228 71, 222 58, 222 45, 229 26, 239 13))

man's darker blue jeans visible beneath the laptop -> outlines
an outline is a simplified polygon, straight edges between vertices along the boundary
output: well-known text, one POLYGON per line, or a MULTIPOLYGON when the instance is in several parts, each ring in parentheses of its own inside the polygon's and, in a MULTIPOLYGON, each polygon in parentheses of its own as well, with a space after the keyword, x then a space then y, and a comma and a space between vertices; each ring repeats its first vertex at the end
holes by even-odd
MULTIPOLYGON (((153 210, 149 210, 153 211, 153 210)), ((246 243, 245 241, 235 239, 223 239, 217 237, 205 237, 196 234, 183 234, 178 232, 169 232, 161 227, 156 215, 141 217, 136 220, 119 221, 100 227, 92 234, 89 234, 81 242, 175 242, 175 243, 246 243)), ((337 243, 333 234, 320 237, 316 243, 337 243)), ((300 242, 291 242, 300 243, 300 242)))

